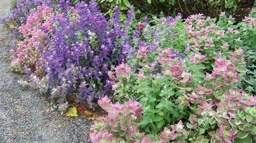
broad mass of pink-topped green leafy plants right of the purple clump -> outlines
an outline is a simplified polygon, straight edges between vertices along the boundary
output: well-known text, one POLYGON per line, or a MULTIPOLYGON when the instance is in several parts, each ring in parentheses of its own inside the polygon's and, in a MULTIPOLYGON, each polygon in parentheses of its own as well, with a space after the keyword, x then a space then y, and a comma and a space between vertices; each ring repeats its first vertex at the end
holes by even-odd
POLYGON ((234 25, 221 13, 217 22, 201 14, 185 22, 179 15, 155 22, 142 23, 142 35, 133 38, 138 50, 132 60, 109 71, 118 102, 99 101, 108 115, 94 125, 91 139, 255 141, 256 98, 238 88, 247 72, 242 47, 250 47, 244 28, 255 35, 255 18, 234 25), (141 117, 127 112, 129 105, 137 107, 132 100, 143 106, 141 117))

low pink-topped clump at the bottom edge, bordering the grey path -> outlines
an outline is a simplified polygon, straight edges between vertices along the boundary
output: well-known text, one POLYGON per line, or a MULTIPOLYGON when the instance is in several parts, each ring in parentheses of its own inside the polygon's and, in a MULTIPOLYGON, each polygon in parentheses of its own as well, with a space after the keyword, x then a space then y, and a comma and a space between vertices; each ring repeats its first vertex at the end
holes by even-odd
POLYGON ((139 142, 144 133, 139 132, 137 122, 141 119, 142 105, 136 101, 126 103, 111 103, 105 96, 98 101, 101 108, 107 111, 107 116, 100 118, 94 124, 93 132, 90 134, 93 142, 139 142))

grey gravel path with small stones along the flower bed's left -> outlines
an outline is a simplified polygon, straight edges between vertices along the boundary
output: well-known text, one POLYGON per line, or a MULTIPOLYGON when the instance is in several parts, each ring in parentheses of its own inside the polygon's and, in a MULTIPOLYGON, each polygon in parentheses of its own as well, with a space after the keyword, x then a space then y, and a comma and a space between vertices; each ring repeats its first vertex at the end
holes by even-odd
MULTIPOLYGON (((0 18, 8 14, 10 3, 0 0, 0 18)), ((45 113, 48 101, 17 83, 25 77, 8 69, 10 43, 9 31, 0 24, 0 142, 90 142, 86 117, 45 113)))

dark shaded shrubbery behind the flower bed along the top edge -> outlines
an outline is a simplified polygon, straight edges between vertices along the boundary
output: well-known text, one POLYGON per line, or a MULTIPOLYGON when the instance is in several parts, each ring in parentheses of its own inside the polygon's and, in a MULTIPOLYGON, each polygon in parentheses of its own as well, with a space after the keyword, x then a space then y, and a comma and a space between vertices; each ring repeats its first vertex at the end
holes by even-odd
POLYGON ((196 13, 204 13, 205 16, 211 18, 218 17, 219 13, 226 11, 235 15, 236 21, 241 21, 245 15, 248 15, 254 1, 246 0, 97 0, 101 10, 107 15, 111 15, 111 11, 115 5, 125 12, 130 5, 133 5, 137 18, 143 16, 176 16, 182 13, 183 18, 196 13))

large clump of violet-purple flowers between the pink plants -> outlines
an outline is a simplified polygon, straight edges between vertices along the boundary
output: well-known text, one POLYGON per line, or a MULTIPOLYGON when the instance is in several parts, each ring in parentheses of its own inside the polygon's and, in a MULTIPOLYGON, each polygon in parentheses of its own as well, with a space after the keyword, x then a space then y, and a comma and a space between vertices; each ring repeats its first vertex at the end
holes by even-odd
POLYGON ((78 2, 74 8, 62 7, 61 11, 68 15, 57 13, 54 34, 47 39, 48 50, 41 51, 50 87, 58 88, 61 92, 57 95, 62 97, 76 93, 78 101, 94 108, 97 99, 113 92, 107 74, 110 65, 125 62, 135 49, 119 23, 118 8, 114 10, 113 27, 95 1, 78 2), (75 20, 70 11, 76 11, 75 20))

